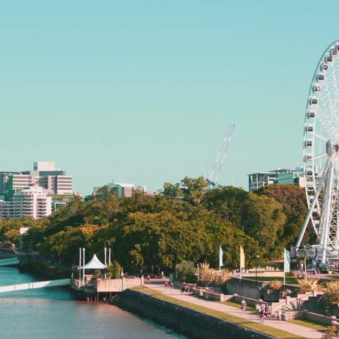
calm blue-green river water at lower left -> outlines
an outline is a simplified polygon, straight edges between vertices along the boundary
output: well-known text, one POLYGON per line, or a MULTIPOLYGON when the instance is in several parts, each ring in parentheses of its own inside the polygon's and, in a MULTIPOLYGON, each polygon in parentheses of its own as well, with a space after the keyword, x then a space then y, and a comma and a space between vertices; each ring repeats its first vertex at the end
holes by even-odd
MULTIPOLYGON (((0 267, 0 285, 37 281, 17 268, 0 267)), ((66 288, 8 292, 0 295, 1 339, 184 339, 104 303, 73 300, 66 288)))

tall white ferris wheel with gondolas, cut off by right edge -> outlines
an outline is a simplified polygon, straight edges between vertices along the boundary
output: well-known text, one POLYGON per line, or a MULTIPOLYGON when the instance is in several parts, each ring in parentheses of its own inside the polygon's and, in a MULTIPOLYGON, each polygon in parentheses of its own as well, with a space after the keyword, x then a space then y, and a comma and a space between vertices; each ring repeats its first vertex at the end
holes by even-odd
POLYGON ((339 40, 323 52, 311 81, 304 120, 303 162, 309 211, 296 249, 307 227, 313 227, 314 255, 323 265, 339 258, 339 40))

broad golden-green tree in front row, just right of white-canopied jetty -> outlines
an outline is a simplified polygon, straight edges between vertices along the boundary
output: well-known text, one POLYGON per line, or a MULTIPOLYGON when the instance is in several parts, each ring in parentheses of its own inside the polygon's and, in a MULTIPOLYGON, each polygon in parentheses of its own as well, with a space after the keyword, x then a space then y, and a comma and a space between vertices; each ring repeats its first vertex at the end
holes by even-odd
POLYGON ((125 267, 138 268, 174 268, 184 259, 197 261, 203 252, 201 232, 169 212, 130 213, 122 225, 116 222, 107 229, 114 256, 125 267))

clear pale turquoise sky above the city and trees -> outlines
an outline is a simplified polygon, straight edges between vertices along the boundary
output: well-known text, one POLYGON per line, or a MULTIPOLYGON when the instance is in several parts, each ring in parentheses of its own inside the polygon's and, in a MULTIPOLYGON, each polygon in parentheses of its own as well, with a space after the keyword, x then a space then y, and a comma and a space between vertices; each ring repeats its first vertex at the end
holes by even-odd
POLYGON ((302 164, 309 83, 338 1, 0 1, 0 170, 54 160, 88 194, 302 164))

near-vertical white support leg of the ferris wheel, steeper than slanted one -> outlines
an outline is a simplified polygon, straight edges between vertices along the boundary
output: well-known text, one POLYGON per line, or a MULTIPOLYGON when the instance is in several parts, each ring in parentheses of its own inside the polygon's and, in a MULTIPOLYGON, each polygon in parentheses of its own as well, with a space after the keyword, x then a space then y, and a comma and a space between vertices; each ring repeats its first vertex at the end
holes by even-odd
POLYGON ((321 263, 326 263, 326 251, 328 246, 328 239, 329 239, 329 229, 330 229, 330 222, 331 222, 331 210, 332 210, 332 191, 333 191, 333 175, 334 175, 334 166, 333 164, 330 165, 329 173, 327 176, 327 184, 326 184, 326 207, 325 207, 325 218, 324 224, 321 227, 323 231, 321 234, 321 248, 323 252, 321 254, 321 263))

